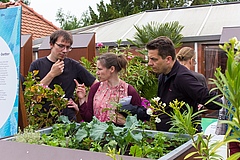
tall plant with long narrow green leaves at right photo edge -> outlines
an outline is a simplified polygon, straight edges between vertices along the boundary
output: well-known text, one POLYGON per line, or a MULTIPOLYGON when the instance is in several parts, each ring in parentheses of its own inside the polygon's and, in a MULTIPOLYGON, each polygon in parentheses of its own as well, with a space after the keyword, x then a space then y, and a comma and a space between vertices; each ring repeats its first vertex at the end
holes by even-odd
MULTIPOLYGON (((229 43, 220 45, 219 47, 227 53, 227 67, 225 72, 221 68, 215 71, 216 79, 211 79, 211 82, 216 85, 213 90, 219 90, 227 100, 225 104, 218 104, 227 109, 229 120, 223 120, 222 123, 227 124, 228 129, 225 134, 224 141, 239 142, 240 137, 240 42, 237 38, 232 38, 229 43)), ((240 153, 235 153, 228 159, 238 159, 240 153)))

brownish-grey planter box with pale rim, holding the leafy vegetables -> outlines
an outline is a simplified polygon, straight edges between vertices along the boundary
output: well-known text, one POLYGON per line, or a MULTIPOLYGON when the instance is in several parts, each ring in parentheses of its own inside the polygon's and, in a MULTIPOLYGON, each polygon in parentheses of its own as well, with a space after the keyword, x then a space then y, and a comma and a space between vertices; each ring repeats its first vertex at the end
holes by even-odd
MULTIPOLYGON (((41 133, 51 133, 51 128, 39 130, 41 133)), ((146 131, 150 135, 158 131, 146 131)), ((174 133, 164 132, 168 137, 174 133)), ((187 135, 183 135, 184 137, 187 135)), ((0 157, 7 160, 112 160, 106 153, 91 152, 77 149, 52 147, 45 145, 27 144, 13 141, 14 137, 0 140, 0 157)), ((158 160, 182 160, 185 155, 194 151, 192 141, 189 140, 178 148, 158 160)), ((123 160, 147 160, 147 158, 137 158, 131 156, 121 156, 123 160)), ((190 160, 190 158, 188 159, 190 160)))

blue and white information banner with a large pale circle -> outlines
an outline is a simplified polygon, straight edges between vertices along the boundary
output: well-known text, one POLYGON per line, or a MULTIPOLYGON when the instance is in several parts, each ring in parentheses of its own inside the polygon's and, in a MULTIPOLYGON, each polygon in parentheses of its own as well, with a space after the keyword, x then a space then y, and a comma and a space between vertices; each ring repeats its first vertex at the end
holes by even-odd
POLYGON ((0 138, 18 131, 21 6, 0 9, 0 138))

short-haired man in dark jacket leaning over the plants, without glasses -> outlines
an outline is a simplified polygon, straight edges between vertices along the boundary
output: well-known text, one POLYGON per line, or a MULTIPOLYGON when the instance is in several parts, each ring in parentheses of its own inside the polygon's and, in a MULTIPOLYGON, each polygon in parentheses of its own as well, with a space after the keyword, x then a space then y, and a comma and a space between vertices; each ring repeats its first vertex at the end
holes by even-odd
MULTIPOLYGON (((204 104, 208 109, 219 110, 221 107, 213 102, 205 104, 215 95, 210 93, 197 78, 176 60, 173 42, 165 36, 160 36, 147 43, 148 65, 152 67, 158 77, 158 93, 163 103, 167 104, 166 111, 172 112, 168 106, 173 100, 183 101, 193 107, 194 113, 198 111, 198 104, 204 104)), ((220 98, 215 101, 222 103, 220 98)), ((170 117, 166 114, 159 116, 160 123, 156 123, 159 131, 169 131, 172 127, 170 117)))

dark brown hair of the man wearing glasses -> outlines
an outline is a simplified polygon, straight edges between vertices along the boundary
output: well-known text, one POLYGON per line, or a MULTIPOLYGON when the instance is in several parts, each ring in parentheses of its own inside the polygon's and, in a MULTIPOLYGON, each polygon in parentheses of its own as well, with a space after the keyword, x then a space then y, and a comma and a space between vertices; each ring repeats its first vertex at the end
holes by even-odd
POLYGON ((64 41, 72 45, 73 38, 72 35, 65 30, 57 30, 53 32, 50 36, 50 44, 55 44, 59 37, 63 37, 64 41))

